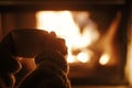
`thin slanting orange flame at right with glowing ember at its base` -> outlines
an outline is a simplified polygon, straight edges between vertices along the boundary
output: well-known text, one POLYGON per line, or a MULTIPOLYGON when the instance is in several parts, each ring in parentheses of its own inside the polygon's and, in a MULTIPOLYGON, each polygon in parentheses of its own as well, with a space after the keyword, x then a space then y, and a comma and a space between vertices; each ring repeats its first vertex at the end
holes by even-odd
POLYGON ((111 25, 109 26, 108 29, 108 32, 103 35, 103 38, 101 40, 100 42, 100 47, 103 46, 103 53, 102 56, 100 57, 99 59, 99 63, 101 65, 106 65, 108 62, 111 64, 111 65, 116 65, 117 62, 119 61, 118 58, 118 46, 116 46, 114 44, 114 48, 113 48, 113 40, 114 40, 114 36, 118 32, 118 26, 119 26, 119 23, 120 23, 120 20, 121 20, 121 13, 120 12, 117 12, 117 15, 116 18, 113 19, 113 21, 111 22, 111 25), (117 58, 116 58, 117 57, 117 58), (110 58, 113 58, 113 59, 110 59, 110 58))

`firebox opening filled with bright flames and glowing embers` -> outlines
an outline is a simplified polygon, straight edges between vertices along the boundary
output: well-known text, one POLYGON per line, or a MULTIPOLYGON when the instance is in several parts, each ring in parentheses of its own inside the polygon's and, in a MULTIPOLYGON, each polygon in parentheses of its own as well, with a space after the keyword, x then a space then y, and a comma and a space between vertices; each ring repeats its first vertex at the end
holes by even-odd
POLYGON ((121 11, 36 12, 37 29, 66 41, 72 84, 120 82, 121 22, 121 11))

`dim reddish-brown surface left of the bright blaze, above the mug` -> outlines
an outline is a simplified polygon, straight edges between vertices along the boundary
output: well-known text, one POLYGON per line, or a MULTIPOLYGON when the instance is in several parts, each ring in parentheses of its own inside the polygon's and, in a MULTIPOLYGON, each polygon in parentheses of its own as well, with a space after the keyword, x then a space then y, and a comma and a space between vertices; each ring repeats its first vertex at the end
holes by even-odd
POLYGON ((35 12, 1 12, 0 38, 14 29, 36 28, 35 12))

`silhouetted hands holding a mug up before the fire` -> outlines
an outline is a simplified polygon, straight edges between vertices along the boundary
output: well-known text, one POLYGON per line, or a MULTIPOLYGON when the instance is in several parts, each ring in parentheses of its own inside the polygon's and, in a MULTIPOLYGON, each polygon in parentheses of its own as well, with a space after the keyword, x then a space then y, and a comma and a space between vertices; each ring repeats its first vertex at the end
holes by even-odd
POLYGON ((65 40, 57 37, 54 32, 48 33, 37 29, 13 30, 3 37, 0 47, 9 53, 3 53, 0 48, 0 59, 6 63, 0 64, 2 65, 0 66, 0 82, 2 80, 3 86, 9 86, 3 88, 70 88, 67 77, 68 64, 65 58, 67 55, 65 40), (15 58, 18 56, 35 58, 36 68, 22 77, 19 86, 14 86, 18 79, 14 73, 22 66, 15 58), (1 72, 4 72, 7 66, 10 73, 6 70, 6 74, 11 77, 4 80, 1 72))

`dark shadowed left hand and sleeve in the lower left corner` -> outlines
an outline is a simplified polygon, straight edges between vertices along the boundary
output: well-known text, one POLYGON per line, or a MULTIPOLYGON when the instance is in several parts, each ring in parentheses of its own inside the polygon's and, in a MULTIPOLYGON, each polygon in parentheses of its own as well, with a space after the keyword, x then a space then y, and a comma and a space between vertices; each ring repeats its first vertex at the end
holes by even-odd
POLYGON ((0 88, 13 88, 14 74, 20 68, 21 64, 9 52, 0 47, 0 88))

